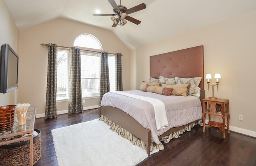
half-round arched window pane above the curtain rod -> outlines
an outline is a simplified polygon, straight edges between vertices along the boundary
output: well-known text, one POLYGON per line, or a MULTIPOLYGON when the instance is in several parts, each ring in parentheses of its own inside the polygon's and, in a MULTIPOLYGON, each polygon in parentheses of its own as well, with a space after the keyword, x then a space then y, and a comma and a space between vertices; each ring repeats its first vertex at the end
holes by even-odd
POLYGON ((74 46, 102 50, 102 45, 100 41, 91 34, 81 34, 76 37, 74 41, 74 46))

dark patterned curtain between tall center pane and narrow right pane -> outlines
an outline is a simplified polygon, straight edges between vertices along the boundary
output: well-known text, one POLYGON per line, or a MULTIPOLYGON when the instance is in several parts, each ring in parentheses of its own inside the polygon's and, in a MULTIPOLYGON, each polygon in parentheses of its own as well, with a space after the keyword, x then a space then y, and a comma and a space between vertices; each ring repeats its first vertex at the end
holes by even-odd
POLYGON ((100 63, 100 102, 102 96, 110 91, 108 72, 108 52, 102 51, 100 63))

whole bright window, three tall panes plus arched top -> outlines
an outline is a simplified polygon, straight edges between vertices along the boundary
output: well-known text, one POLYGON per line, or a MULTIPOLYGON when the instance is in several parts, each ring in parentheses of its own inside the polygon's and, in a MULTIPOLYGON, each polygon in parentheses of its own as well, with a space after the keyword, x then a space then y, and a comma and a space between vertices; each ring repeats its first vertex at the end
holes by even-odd
MULTIPOLYGON (((100 41, 90 35, 79 35, 74 41, 78 47, 102 50, 100 41)), ((108 55, 110 91, 115 90, 115 56, 108 55)), ((68 99, 69 51, 58 49, 57 100, 68 99)), ((81 82, 82 97, 98 97, 100 95, 100 55, 81 50, 81 82)))

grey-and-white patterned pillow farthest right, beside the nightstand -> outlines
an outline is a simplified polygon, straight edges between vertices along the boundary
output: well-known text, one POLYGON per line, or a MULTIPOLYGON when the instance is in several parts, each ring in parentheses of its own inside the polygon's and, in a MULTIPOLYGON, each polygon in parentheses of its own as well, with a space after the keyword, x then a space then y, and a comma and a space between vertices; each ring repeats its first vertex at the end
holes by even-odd
POLYGON ((192 96, 194 96, 196 94, 196 87, 198 87, 201 79, 202 79, 202 77, 194 77, 194 78, 175 77, 176 84, 190 83, 188 95, 192 95, 192 96))

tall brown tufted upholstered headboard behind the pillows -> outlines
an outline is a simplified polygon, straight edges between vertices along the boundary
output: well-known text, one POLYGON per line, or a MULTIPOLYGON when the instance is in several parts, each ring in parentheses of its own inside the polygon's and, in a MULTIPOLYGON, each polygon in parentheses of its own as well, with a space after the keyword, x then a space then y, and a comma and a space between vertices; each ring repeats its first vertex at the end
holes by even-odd
POLYGON ((202 77, 199 84, 204 89, 203 45, 150 56, 150 77, 174 78, 202 77))

